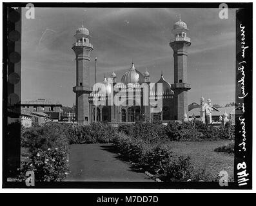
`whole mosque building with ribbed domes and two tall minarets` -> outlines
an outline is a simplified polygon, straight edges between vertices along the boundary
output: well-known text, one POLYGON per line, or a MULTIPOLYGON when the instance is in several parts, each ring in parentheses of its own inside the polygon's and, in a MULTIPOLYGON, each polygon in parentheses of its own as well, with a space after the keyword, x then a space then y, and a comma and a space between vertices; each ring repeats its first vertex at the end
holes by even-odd
MULTIPOLYGON (((89 31, 82 26, 75 33, 72 49, 76 57, 75 117, 79 124, 86 122, 138 122, 144 120, 182 120, 188 113, 187 93, 190 89, 187 75, 186 23, 173 25, 174 37, 170 41, 174 58, 174 82, 170 84, 159 74, 157 82, 150 82, 150 73, 141 73, 132 62, 122 77, 115 72, 104 77, 103 82, 90 86, 90 54, 93 51, 89 31), (119 81, 118 81, 119 80, 119 81), (95 109, 97 108, 97 109, 95 109), (95 118, 97 117, 97 118, 95 118)), ((95 59, 96 61, 97 59, 95 59)))

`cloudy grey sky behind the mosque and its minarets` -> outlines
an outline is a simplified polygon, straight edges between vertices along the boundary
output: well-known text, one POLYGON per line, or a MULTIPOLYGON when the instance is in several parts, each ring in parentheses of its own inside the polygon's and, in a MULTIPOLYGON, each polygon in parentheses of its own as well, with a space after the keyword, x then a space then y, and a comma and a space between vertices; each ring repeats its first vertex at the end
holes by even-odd
POLYGON ((181 20, 189 28, 188 104, 211 98, 212 104, 235 102, 235 10, 228 19, 219 9, 188 8, 35 8, 35 19, 22 15, 21 99, 48 98, 63 106, 75 104, 75 30, 90 31, 94 51, 90 61, 91 86, 112 71, 117 82, 134 61, 150 81, 161 76, 173 83, 173 24, 181 20))

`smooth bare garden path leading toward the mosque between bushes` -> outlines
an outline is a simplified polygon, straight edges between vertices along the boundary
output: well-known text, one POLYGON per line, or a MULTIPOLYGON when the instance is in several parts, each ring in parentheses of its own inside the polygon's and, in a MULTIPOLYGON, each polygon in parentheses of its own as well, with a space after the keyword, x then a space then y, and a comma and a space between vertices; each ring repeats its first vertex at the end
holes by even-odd
POLYGON ((113 153, 112 144, 70 145, 70 174, 66 181, 152 182, 113 153))

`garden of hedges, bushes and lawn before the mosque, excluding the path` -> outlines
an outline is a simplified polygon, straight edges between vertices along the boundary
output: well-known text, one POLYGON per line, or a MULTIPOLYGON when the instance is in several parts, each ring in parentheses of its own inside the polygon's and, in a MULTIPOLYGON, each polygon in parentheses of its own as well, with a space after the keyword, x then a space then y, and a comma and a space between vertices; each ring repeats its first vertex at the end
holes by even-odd
POLYGON ((45 124, 21 129, 21 169, 17 181, 34 171, 36 181, 63 181, 69 173, 68 145, 108 143, 123 161, 163 182, 216 182, 224 167, 233 180, 234 127, 199 121, 167 126, 135 124, 45 124))

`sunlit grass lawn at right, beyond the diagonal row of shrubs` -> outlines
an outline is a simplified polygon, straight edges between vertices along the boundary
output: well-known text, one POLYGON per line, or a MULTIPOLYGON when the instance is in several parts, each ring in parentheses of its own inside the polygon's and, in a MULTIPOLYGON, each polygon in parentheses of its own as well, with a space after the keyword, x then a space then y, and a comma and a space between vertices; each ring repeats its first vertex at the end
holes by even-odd
POLYGON ((233 181, 234 155, 217 153, 215 148, 231 143, 231 140, 202 142, 168 142, 175 154, 190 156, 194 167, 205 167, 212 175, 218 175, 223 169, 228 172, 233 181))

